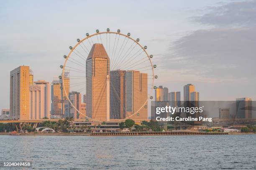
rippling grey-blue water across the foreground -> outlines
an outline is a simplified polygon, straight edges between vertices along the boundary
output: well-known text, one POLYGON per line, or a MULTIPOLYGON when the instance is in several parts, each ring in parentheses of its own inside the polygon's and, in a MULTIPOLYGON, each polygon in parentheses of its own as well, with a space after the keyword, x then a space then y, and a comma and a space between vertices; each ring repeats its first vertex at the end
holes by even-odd
POLYGON ((0 135, 0 162, 6 160, 33 161, 36 170, 255 170, 256 135, 0 135))

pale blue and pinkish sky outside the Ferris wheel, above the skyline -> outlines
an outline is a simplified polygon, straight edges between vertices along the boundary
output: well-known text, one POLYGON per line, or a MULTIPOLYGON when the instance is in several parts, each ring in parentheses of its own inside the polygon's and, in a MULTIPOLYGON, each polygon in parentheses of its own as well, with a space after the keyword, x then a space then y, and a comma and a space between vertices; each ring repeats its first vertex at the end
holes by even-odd
MULTIPOLYGON (((120 29, 154 54, 155 85, 195 85, 200 100, 256 98, 256 0, 13 0, 0 3, 0 109, 10 71, 29 65, 51 82, 85 33, 120 29)), ((153 95, 154 96, 154 95, 153 95)))

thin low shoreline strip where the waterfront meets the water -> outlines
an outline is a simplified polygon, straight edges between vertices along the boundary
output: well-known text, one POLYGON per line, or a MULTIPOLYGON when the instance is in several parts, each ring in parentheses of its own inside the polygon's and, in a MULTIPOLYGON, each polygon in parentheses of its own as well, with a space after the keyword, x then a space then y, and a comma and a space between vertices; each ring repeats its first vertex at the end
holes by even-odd
POLYGON ((252 135, 256 133, 0 133, 0 135, 14 136, 170 136, 170 135, 252 135))

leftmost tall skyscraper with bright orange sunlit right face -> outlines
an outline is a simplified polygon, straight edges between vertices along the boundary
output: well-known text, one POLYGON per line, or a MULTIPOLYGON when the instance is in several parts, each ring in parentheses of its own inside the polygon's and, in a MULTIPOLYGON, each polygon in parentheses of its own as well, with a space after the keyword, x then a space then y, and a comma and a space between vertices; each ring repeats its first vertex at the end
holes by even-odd
POLYGON ((29 66, 10 72, 10 118, 29 120, 29 66))

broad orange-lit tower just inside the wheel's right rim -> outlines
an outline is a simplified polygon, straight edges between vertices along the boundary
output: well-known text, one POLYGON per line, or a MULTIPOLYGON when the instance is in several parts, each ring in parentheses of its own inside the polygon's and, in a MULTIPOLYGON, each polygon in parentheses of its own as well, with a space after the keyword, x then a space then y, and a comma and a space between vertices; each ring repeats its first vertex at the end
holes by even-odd
POLYGON ((148 109, 144 105, 148 97, 147 81, 148 81, 148 77, 146 73, 141 73, 136 70, 126 71, 125 73, 126 115, 125 117, 129 117, 130 115, 137 112, 137 114, 131 116, 130 118, 133 120, 148 120, 148 109))

